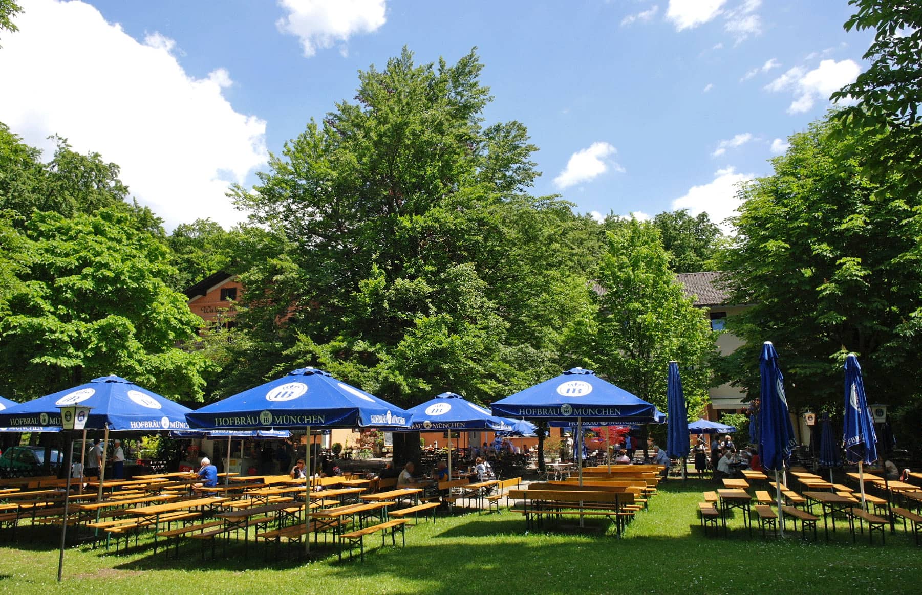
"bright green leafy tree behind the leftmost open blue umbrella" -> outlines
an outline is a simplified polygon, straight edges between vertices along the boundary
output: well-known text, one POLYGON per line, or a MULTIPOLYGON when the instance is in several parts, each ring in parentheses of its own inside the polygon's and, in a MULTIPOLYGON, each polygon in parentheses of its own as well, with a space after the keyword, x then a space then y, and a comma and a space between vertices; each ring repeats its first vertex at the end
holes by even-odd
POLYGON ((34 212, 0 226, 0 384, 35 396, 117 374, 151 390, 201 399, 207 360, 176 346, 199 323, 159 239, 130 213, 65 218, 34 212))

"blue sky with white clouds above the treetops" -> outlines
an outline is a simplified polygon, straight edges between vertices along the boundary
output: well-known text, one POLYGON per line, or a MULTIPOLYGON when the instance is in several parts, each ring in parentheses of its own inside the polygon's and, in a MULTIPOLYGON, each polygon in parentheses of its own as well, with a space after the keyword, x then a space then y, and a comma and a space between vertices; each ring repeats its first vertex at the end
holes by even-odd
POLYGON ((789 134, 866 67, 845 0, 57 2, 22 0, 0 41, 0 121, 119 163, 167 227, 245 216, 223 192, 351 99, 404 45, 427 63, 471 47, 495 100, 540 151, 535 192, 580 213, 687 207, 723 219, 789 134))

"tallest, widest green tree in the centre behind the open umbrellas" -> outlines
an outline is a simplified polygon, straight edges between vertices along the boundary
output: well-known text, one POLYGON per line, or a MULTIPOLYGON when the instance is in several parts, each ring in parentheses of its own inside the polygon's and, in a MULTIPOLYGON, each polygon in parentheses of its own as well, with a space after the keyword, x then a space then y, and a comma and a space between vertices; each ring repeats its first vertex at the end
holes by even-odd
POLYGON ((269 355, 261 374, 314 364, 395 402, 488 401, 568 365, 589 222, 526 193, 536 147, 519 122, 483 125, 481 69, 474 52, 420 65, 404 51, 361 72, 356 103, 235 190, 260 229, 242 239, 262 257, 244 255, 240 320, 269 355))

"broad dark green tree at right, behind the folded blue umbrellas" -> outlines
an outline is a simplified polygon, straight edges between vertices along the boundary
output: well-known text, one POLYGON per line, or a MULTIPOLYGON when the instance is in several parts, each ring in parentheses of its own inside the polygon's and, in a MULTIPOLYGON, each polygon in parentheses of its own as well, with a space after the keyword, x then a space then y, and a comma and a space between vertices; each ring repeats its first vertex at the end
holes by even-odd
POLYGON ((922 200, 900 170, 880 192, 862 171, 861 134, 814 122, 775 157, 774 174, 740 192, 738 234, 722 254, 728 319, 746 344, 730 356, 758 396, 758 350, 774 342, 793 411, 842 404, 845 355, 856 352, 869 398, 918 406, 922 386, 922 200), (915 403, 915 404, 913 404, 915 403))

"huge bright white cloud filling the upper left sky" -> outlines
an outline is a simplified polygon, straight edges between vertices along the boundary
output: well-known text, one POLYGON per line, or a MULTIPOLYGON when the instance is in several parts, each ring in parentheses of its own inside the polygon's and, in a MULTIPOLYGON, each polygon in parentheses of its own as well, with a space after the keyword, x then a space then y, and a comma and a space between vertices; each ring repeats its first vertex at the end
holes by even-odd
POLYGON ((172 40, 136 41, 82 2, 22 4, 0 51, 0 80, 16 81, 16 92, 0 93, 0 121, 46 151, 50 134, 98 151, 169 227, 245 219, 224 193, 265 163, 266 122, 234 111, 226 70, 190 76, 172 40))

